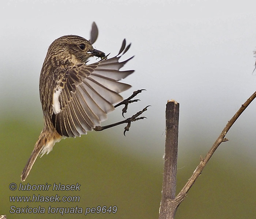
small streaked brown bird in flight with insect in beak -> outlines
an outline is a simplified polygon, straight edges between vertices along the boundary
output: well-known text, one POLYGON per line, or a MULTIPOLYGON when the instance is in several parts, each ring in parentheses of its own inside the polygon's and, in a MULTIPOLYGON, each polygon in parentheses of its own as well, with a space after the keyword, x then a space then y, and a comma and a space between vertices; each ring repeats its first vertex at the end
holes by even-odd
POLYGON ((131 85, 118 81, 134 71, 119 70, 132 57, 123 62, 118 62, 118 59, 127 52, 130 45, 125 47, 124 40, 118 55, 107 59, 105 53, 91 45, 96 38, 95 33, 90 41, 76 35, 67 35, 56 39, 49 46, 39 80, 44 128, 23 169, 22 181, 26 180, 38 155, 48 154, 61 139, 80 137, 93 129, 101 131, 123 123, 128 123, 125 127, 125 131, 128 131, 131 122, 146 118, 138 116, 147 107, 131 118, 100 126, 107 119, 106 114, 115 107, 125 104, 123 113, 126 112, 128 103, 138 101, 131 99, 142 90, 133 92, 133 95, 122 101, 123 97, 119 93, 129 89, 131 85), (100 57, 101 60, 87 65, 87 59, 93 56, 100 57), (120 103, 113 105, 118 102, 120 103))

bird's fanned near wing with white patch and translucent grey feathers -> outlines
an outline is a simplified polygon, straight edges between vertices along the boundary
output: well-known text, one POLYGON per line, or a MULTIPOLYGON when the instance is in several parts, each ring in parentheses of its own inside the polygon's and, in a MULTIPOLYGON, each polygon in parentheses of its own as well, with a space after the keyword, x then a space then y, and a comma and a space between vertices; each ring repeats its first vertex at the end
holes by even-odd
POLYGON ((124 40, 115 57, 67 70, 53 92, 52 123, 60 135, 86 134, 106 120, 106 114, 114 110, 113 104, 123 100, 119 93, 131 85, 118 81, 134 70, 119 71, 132 57, 123 62, 118 60, 129 47, 125 48, 124 40))

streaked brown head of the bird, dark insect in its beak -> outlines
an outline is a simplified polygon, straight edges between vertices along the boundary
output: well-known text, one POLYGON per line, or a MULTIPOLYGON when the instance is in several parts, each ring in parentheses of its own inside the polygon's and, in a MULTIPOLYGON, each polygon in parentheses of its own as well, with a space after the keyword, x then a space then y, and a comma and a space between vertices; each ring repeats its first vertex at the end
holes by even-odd
POLYGON ((45 61, 57 66, 72 66, 85 62, 89 57, 103 58, 105 53, 93 48, 91 43, 76 35, 67 35, 53 41, 45 61))

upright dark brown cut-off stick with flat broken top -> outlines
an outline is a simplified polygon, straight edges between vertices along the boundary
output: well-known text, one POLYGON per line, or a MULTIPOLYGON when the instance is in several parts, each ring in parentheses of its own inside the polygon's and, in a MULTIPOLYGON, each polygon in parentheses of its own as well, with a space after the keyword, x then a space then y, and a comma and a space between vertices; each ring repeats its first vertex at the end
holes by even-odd
POLYGON ((163 170, 162 200, 159 219, 174 218, 177 208, 170 206, 176 195, 178 156, 178 122, 180 104, 171 100, 166 104, 165 160, 163 170), (169 209, 173 211, 169 211, 169 209))

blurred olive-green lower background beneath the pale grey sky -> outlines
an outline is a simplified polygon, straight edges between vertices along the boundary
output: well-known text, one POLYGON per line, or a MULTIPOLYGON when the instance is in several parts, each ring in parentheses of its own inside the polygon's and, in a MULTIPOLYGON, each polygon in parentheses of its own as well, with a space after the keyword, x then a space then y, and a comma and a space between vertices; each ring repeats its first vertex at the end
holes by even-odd
MULTIPOLYGON (((7 214, 7 218, 84 218, 84 214, 17 215, 9 211, 11 205, 40 205, 46 211, 49 206, 78 206, 83 208, 83 212, 86 207, 116 205, 116 214, 89 214, 86 218, 158 218, 163 159, 160 155, 145 156, 129 151, 132 133, 128 132, 127 137, 123 137, 121 127, 57 143, 51 153, 38 158, 23 183, 79 183, 80 191, 56 192, 51 191, 52 187, 49 191, 10 191, 10 183, 20 184, 20 173, 41 131, 41 125, 28 118, 23 120, 22 115, 6 115, 1 119, 1 214, 7 214), (33 194, 80 196, 80 201, 10 203, 9 196, 33 194)), ((133 126, 135 129, 136 124, 133 126)), ((143 142, 137 140, 137 147, 140 147, 143 142)), ((210 148, 207 140, 205 143, 210 148)), ((204 145, 194 142, 193 146, 193 150, 187 150, 178 157, 177 191, 180 191, 199 164, 199 155, 206 153, 207 147, 204 145)), ((163 153, 163 145, 160 148, 163 153)), ((229 142, 222 143, 178 208, 176 218, 255 218, 255 171, 255 165, 248 157, 230 149, 229 142)))

